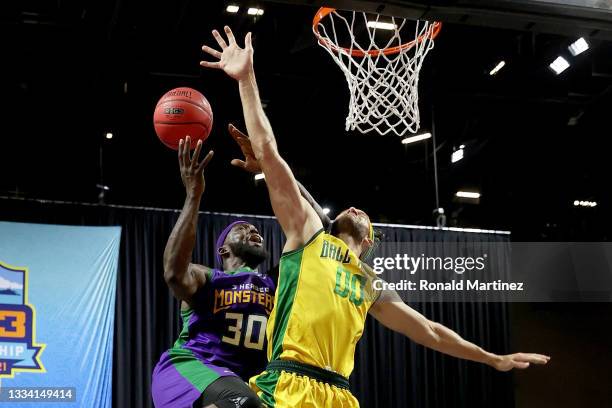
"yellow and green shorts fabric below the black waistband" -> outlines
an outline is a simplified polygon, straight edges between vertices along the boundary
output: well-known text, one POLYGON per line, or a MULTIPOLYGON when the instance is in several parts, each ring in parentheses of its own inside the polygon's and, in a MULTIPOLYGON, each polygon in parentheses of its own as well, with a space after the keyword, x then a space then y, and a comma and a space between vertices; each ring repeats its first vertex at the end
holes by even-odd
POLYGON ((359 408, 347 389, 286 371, 264 371, 250 386, 268 408, 359 408))

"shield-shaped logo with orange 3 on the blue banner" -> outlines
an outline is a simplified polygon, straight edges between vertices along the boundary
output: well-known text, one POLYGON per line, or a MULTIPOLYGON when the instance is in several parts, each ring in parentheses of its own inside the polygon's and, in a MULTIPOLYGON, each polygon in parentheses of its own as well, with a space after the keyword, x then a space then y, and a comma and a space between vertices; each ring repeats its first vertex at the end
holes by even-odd
POLYGON ((36 344, 36 311, 28 303, 28 270, 0 261, 0 378, 45 372, 36 344))

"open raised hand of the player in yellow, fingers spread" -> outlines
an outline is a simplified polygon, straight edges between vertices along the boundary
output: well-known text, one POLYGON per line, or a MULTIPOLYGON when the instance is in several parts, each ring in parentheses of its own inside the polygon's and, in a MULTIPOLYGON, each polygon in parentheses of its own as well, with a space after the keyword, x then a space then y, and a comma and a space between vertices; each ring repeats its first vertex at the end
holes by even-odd
POLYGON ((251 33, 248 33, 244 39, 244 48, 238 46, 232 30, 228 26, 225 26, 225 34, 227 35, 227 42, 217 30, 213 30, 213 36, 217 40, 221 51, 207 45, 202 47, 204 52, 212 55, 219 61, 200 61, 200 65, 207 68, 221 69, 236 80, 245 79, 253 70, 251 33))

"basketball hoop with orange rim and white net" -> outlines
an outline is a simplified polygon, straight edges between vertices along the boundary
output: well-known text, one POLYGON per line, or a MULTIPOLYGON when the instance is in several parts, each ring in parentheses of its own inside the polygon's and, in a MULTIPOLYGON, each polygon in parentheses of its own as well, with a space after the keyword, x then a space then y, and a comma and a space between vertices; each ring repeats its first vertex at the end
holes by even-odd
POLYGON ((407 131, 416 133, 419 72, 442 24, 416 20, 414 39, 402 42, 401 34, 406 36, 410 20, 379 20, 380 15, 368 20, 365 12, 322 7, 312 21, 312 30, 346 77, 350 92, 346 130, 376 130, 381 135, 393 132, 398 136, 407 131), (383 31, 390 35, 379 44, 376 36, 383 31), (340 41, 347 46, 341 46, 340 41))

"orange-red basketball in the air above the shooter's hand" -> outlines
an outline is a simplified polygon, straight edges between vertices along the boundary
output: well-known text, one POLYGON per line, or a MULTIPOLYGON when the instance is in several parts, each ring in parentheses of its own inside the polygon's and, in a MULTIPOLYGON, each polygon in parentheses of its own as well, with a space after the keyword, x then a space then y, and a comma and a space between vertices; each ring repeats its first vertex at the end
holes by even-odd
POLYGON ((190 136, 191 147, 205 141, 213 123, 210 103, 200 92, 191 88, 175 88, 162 96, 155 106, 153 125, 159 140, 177 150, 179 140, 190 136))

